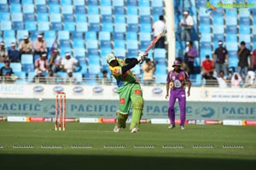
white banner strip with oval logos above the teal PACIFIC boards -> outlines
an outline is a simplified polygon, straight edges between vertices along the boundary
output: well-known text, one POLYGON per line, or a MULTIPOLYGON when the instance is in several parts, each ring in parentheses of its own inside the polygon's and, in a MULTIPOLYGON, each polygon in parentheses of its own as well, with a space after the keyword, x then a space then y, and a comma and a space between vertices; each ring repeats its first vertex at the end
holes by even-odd
MULTIPOLYGON (((65 92, 67 99, 118 100, 116 86, 0 84, 0 98, 55 99, 57 92, 65 92)), ((167 101, 166 86, 143 87, 143 98, 167 101)), ((192 87, 188 101, 256 102, 256 88, 192 87)))

